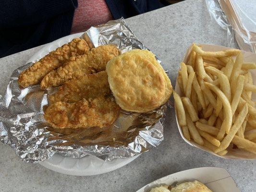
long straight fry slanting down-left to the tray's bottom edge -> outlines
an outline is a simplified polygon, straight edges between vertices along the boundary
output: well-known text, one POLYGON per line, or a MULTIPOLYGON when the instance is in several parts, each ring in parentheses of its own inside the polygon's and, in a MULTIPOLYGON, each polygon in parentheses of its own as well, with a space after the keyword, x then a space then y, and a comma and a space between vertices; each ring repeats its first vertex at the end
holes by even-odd
POLYGON ((234 138, 236 132, 242 126, 247 113, 248 113, 248 106, 244 105, 244 108, 239 113, 238 117, 235 120, 235 123, 233 124, 232 128, 230 129, 230 132, 228 132, 226 137, 222 140, 219 148, 214 151, 215 153, 218 153, 218 152, 223 151, 224 149, 228 148, 228 146, 232 142, 232 139, 234 138))

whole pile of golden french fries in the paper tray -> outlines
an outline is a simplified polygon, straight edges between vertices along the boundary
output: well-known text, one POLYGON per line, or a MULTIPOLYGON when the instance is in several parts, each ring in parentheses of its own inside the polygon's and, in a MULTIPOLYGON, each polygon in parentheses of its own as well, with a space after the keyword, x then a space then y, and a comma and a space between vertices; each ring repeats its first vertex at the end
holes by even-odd
POLYGON ((177 78, 181 94, 173 91, 178 122, 187 140, 220 156, 230 148, 256 154, 252 69, 256 63, 244 63, 238 49, 207 52, 193 44, 177 78))

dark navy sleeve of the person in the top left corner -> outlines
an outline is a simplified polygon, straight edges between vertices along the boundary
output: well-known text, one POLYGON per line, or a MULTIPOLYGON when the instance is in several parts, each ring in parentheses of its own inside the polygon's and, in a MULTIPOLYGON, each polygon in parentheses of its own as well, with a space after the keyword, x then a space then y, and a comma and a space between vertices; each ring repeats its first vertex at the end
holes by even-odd
POLYGON ((1 0, 0 28, 37 24, 77 8, 77 0, 1 0))

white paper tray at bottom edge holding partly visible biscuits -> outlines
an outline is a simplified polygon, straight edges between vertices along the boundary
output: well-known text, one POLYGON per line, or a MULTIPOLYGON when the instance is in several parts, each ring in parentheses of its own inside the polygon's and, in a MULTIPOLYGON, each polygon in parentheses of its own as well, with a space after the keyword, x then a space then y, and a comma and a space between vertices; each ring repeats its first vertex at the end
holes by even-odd
POLYGON ((204 183, 212 192, 240 192, 230 174, 224 168, 193 168, 173 173, 155 180, 137 192, 149 192, 160 185, 173 185, 198 180, 204 183))

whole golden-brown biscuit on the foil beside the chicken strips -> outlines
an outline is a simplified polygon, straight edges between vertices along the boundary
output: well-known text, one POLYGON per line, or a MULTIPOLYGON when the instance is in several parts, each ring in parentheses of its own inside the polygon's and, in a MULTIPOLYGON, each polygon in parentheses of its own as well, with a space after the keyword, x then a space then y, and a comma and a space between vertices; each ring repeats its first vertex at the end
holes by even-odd
POLYGON ((134 49, 113 58, 106 72, 116 102, 124 110, 148 112, 171 96, 171 81, 148 50, 134 49))

